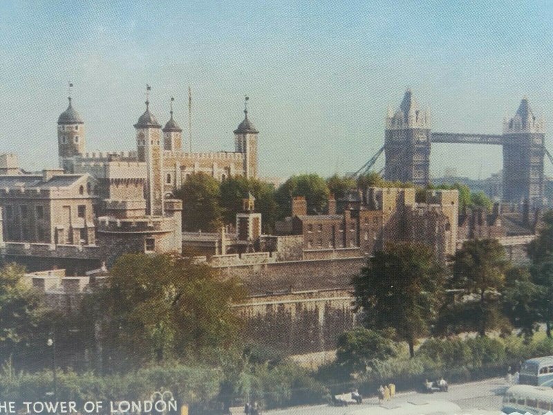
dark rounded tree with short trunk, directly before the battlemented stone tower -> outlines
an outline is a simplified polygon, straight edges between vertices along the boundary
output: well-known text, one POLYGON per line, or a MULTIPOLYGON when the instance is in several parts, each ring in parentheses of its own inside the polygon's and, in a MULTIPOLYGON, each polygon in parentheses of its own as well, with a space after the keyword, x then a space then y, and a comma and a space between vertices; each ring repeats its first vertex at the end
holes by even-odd
POLYGON ((395 329, 409 344, 429 333, 443 299, 444 274, 434 251, 421 243, 391 243, 354 277, 356 308, 370 329, 395 329))

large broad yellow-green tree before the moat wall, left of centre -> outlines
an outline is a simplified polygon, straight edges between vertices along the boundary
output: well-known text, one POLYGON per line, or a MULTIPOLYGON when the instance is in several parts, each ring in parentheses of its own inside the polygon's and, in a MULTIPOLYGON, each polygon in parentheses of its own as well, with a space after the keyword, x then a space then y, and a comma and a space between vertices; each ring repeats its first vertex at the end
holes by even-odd
POLYGON ((111 365, 132 369, 149 360, 197 357, 234 341, 239 320, 232 302, 243 289, 214 268, 169 255, 129 254, 110 275, 98 301, 111 365))

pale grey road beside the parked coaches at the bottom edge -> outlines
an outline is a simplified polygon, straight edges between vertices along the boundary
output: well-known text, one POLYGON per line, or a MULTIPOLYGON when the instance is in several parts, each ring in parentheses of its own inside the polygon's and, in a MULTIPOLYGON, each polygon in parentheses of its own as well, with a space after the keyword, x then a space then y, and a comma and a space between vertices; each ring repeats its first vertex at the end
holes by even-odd
MULTIPOLYGON (((469 382, 458 385, 449 385, 447 393, 420 394, 418 392, 399 393, 393 399, 397 403, 406 403, 410 400, 449 400, 456 403, 464 411, 469 409, 501 409, 503 394, 507 390, 507 384, 503 378, 493 378, 480 382, 469 382)), ((375 397, 364 399, 362 405, 350 405, 348 409, 362 409, 362 407, 377 407, 378 400, 375 397)), ((337 415, 344 414, 345 408, 330 407, 329 405, 316 405, 309 407, 294 407, 288 409, 275 409, 265 411, 270 415, 337 415)))

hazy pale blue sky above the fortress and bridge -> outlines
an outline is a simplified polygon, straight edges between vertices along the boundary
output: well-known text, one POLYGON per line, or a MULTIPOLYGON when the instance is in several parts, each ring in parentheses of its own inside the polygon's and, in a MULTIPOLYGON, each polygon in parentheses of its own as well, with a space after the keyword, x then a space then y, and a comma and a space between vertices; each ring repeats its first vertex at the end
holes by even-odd
MULTIPOLYGON (((233 149, 247 94, 262 176, 330 176, 381 147, 406 86, 433 131, 500 133, 523 95, 553 126, 553 2, 0 1, 0 152, 57 163, 68 80, 90 151, 135 147, 146 84, 186 127, 190 85, 194 150, 233 149)), ((446 167, 488 176, 500 147, 433 145, 446 167)))

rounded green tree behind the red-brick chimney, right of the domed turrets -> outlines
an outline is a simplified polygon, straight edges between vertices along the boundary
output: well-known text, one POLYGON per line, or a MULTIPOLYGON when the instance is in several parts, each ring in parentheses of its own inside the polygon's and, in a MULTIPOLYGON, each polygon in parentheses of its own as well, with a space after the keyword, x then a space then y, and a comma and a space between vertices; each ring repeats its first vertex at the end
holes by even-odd
POLYGON ((318 174, 300 174, 290 177, 275 194, 280 218, 290 216, 294 196, 306 198, 308 214, 321 214, 326 210, 330 191, 324 178, 318 174))

